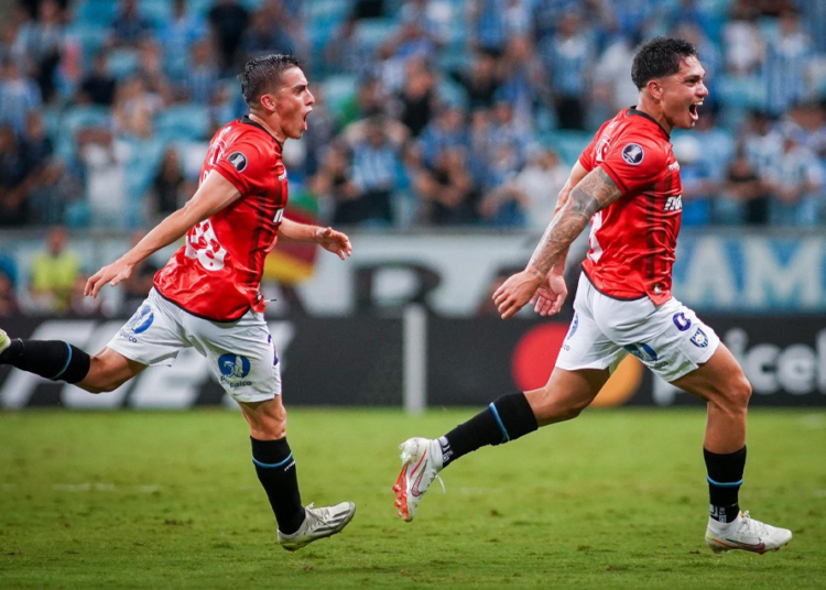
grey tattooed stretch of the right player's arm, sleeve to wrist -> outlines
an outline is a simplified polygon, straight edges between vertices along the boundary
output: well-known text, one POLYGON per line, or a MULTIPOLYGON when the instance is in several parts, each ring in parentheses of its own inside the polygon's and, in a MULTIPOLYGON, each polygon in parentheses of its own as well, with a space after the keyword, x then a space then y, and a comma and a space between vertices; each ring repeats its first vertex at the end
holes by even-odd
POLYGON ((568 248, 591 216, 621 196, 617 184, 601 167, 591 171, 570 190, 564 206, 554 215, 528 267, 544 277, 559 262, 564 263, 568 248))

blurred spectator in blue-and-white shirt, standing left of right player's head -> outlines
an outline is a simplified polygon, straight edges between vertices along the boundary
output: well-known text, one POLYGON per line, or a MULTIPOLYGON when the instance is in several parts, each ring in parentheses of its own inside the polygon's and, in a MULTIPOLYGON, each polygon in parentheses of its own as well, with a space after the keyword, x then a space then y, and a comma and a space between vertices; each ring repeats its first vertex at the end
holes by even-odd
POLYGON ((540 51, 551 73, 559 129, 585 129, 585 96, 596 54, 579 14, 565 13, 558 32, 540 45, 540 51))

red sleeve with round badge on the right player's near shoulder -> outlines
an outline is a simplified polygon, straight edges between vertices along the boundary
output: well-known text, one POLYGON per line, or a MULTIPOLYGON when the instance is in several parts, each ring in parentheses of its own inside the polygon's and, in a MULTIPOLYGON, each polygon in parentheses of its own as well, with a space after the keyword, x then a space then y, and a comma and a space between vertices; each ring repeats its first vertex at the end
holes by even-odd
POLYGON ((617 183, 622 195, 643 190, 667 172, 662 145, 641 135, 618 138, 600 166, 617 183))

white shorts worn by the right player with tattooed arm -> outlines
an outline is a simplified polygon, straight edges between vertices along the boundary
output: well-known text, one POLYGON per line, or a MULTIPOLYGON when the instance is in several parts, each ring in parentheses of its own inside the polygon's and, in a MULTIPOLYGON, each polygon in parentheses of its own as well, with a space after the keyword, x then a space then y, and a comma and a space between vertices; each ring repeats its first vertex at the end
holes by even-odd
POLYGON ((609 369, 630 352, 667 382, 711 358, 720 339, 696 314, 671 298, 660 307, 648 297, 620 301, 604 295, 583 273, 574 319, 556 359, 567 371, 609 369))

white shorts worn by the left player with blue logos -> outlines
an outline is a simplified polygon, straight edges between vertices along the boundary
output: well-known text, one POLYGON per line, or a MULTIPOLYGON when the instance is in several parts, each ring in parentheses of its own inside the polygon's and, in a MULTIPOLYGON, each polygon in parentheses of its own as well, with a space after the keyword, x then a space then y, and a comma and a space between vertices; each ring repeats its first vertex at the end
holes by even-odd
POLYGON ((154 288, 107 345, 143 364, 171 365, 193 347, 237 402, 281 395, 281 365, 263 314, 249 310, 236 321, 210 321, 181 309, 154 288))

